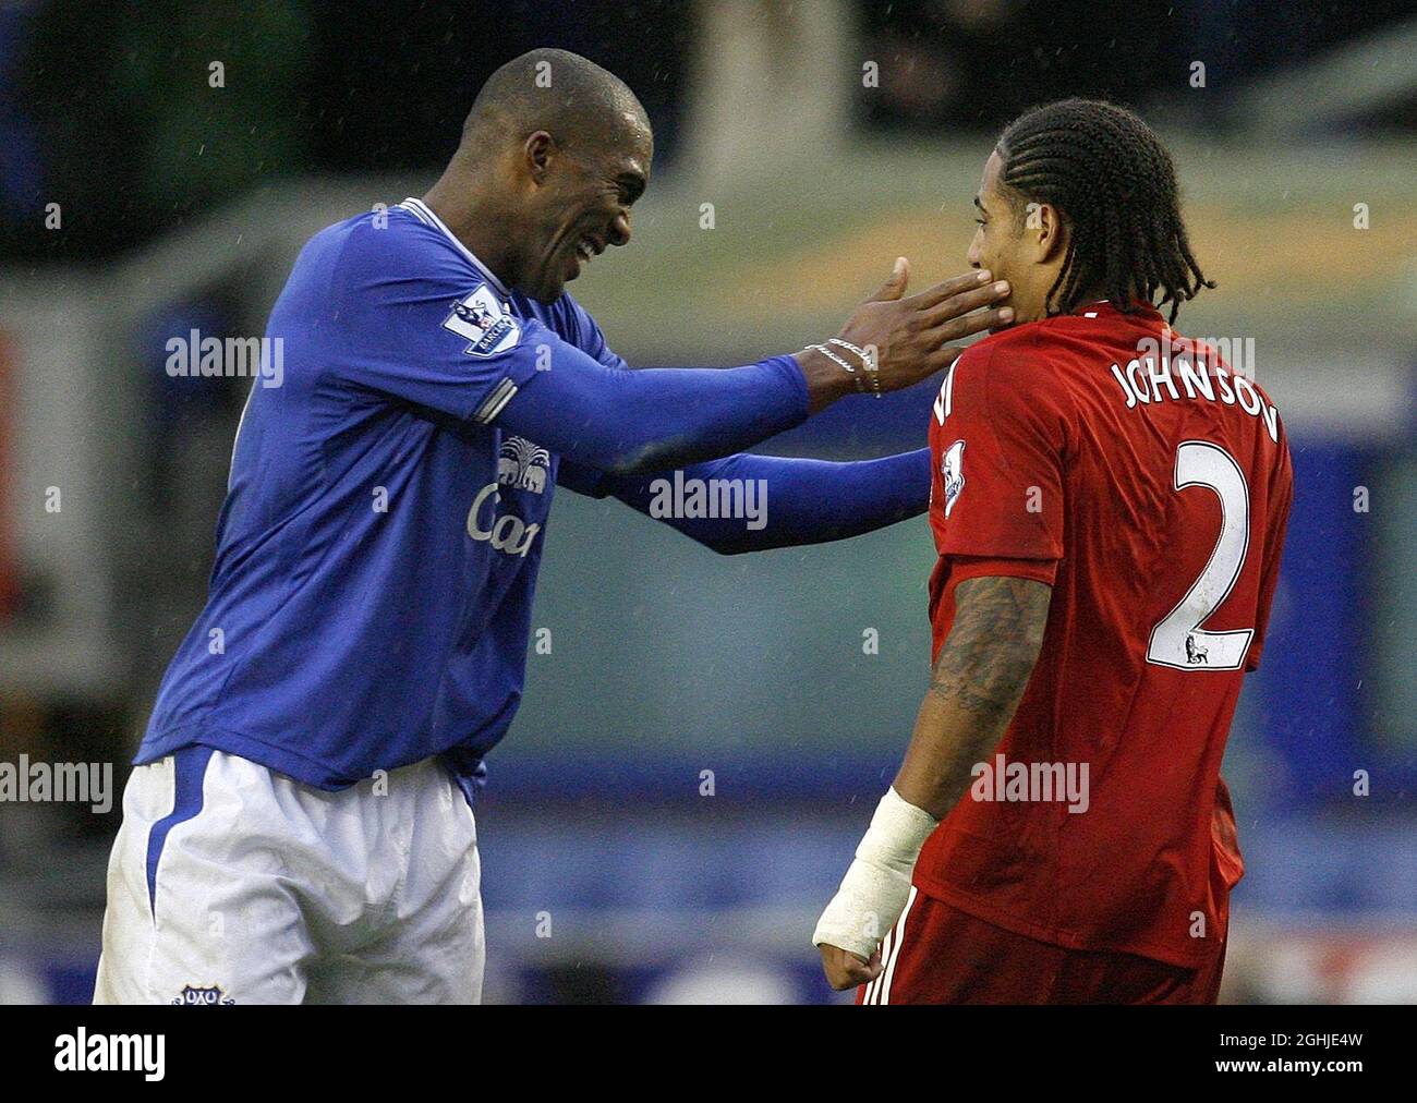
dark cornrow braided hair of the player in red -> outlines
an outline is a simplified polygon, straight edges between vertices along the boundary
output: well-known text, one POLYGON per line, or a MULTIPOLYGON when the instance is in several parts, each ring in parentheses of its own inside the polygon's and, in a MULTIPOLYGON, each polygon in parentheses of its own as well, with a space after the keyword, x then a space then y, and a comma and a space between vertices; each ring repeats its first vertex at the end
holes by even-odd
POLYGON ((1132 112, 1061 99, 1009 123, 998 150, 999 180, 1023 197, 1019 210, 1030 200, 1047 203, 1071 231, 1049 288, 1050 313, 1066 313, 1102 288, 1128 313, 1138 302, 1169 302, 1175 322, 1180 303, 1216 286, 1190 252, 1170 155, 1132 112))

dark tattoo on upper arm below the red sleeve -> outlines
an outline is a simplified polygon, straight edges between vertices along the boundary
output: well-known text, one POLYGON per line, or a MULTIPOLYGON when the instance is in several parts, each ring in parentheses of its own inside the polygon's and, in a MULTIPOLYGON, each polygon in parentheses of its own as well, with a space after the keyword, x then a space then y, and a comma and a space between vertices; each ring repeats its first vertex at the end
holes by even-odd
POLYGON ((1043 645, 1053 588, 1032 578, 966 578, 930 692, 981 720, 1013 713, 1043 645))

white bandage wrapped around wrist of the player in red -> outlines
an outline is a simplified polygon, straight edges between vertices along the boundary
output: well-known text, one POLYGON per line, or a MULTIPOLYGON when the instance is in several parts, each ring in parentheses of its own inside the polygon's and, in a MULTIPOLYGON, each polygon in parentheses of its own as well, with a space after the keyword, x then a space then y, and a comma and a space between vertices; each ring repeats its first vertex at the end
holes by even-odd
POLYGON ((887 790, 842 888, 816 923, 812 944, 839 946, 870 960, 877 943, 900 919, 920 848, 938 824, 924 808, 907 804, 894 788, 887 790))

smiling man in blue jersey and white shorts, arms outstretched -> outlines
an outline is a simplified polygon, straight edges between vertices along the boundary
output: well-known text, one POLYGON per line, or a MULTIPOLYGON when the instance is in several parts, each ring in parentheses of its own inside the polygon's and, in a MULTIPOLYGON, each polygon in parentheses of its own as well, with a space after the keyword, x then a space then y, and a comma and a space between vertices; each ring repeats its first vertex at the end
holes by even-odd
POLYGON ((734 452, 942 369, 1009 316, 971 313, 1006 288, 905 298, 898 262, 825 345, 626 370, 564 286, 629 241, 652 153, 621 81, 534 51, 487 81, 424 198, 300 252, 268 326, 283 386, 251 391, 207 605, 125 793, 96 1001, 479 998, 470 805, 521 696, 557 485, 652 512, 665 468, 761 481, 762 525, 665 517, 720 552, 924 510, 924 449, 734 452))

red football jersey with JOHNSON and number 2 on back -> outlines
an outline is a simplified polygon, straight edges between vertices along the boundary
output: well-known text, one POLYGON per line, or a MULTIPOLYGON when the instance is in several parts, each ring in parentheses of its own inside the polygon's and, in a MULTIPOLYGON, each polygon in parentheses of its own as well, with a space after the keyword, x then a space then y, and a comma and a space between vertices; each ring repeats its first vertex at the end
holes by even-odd
POLYGON ((930 449, 935 655, 965 578, 1053 598, 1019 710, 915 885, 1043 941, 1204 964, 1244 869, 1220 760, 1289 513, 1278 411, 1149 306, 1093 302, 968 349, 930 449))

